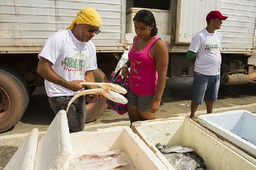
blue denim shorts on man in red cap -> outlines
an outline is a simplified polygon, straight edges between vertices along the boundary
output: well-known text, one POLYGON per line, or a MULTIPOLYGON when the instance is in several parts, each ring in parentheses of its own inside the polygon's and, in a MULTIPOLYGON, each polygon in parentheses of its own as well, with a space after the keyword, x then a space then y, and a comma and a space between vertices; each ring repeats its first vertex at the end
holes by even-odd
POLYGON ((216 101, 220 87, 220 74, 216 76, 206 76, 195 72, 193 80, 192 101, 196 104, 202 104, 204 99, 216 101))

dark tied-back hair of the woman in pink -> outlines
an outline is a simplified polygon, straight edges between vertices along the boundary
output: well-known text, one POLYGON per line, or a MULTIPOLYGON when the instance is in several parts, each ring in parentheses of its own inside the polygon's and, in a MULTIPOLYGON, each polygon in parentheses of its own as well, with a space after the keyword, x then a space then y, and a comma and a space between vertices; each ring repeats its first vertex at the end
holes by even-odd
POLYGON ((156 36, 157 34, 156 19, 151 11, 148 11, 148 10, 138 11, 134 16, 133 21, 143 22, 147 26, 151 26, 152 24, 154 24, 154 27, 151 30, 151 36, 156 36))

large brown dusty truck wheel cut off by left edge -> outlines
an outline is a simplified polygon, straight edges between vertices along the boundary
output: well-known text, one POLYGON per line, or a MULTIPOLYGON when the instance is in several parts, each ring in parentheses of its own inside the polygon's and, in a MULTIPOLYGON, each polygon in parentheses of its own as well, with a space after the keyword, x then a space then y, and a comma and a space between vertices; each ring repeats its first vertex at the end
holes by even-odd
POLYGON ((0 132, 19 122, 29 103, 26 82, 9 69, 0 67, 0 132))

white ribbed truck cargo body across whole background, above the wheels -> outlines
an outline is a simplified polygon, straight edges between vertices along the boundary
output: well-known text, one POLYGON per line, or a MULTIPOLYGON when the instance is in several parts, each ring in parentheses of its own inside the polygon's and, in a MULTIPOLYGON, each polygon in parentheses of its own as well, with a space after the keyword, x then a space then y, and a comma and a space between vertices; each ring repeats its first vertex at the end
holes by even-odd
MULTIPOLYGON (((140 10, 140 8, 130 9, 126 13, 124 0, 108 2, 99 0, 93 3, 74 0, 15 2, 3 0, 0 3, 1 53, 40 52, 45 39, 54 32, 67 28, 76 17, 76 12, 81 10, 81 6, 95 8, 102 17, 100 28, 102 33, 92 39, 97 51, 122 52, 126 45, 131 45, 131 38, 135 35, 132 18, 136 11, 140 10), (131 13, 133 15, 129 15, 131 13), (126 39, 125 33, 128 33, 126 39), (133 34, 129 35, 129 33, 133 34)), ((251 55, 255 49, 256 1, 178 0, 170 3, 170 15, 166 15, 167 10, 152 10, 156 15, 157 26, 160 27, 159 35, 170 45, 168 46, 170 52, 188 50, 191 38, 206 26, 205 16, 211 10, 220 10, 223 15, 228 16, 220 29, 223 53, 251 55), (176 16, 173 16, 173 9, 177 12, 176 16), (170 20, 170 25, 166 20, 170 20), (175 27, 174 32, 173 27, 175 27), (171 43, 173 38, 175 41, 171 43)))

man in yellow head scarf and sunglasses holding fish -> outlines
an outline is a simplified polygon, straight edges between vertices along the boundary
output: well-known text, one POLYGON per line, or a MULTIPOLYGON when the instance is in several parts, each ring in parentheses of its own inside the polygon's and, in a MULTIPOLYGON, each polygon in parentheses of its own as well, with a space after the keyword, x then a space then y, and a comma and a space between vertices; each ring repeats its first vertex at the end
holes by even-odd
MULTIPOLYGON (((99 34, 101 18, 93 8, 77 13, 66 30, 52 34, 38 54, 37 73, 45 78, 45 90, 54 113, 66 110, 74 95, 84 88, 79 83, 95 81, 96 48, 90 39, 99 34)), ((84 130, 84 97, 77 98, 67 113, 70 132, 84 130)))

